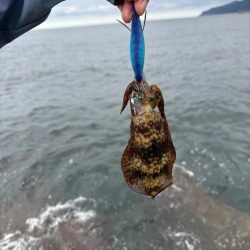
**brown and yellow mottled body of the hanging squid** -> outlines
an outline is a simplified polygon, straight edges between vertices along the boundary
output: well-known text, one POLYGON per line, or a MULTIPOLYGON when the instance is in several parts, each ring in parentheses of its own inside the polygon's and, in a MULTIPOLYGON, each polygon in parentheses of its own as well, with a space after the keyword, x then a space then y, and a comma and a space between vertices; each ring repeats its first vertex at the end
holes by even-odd
MULTIPOLYGON (((148 91, 157 85, 151 85, 148 91)), ((176 158, 161 97, 156 103, 159 112, 146 108, 140 115, 133 115, 130 139, 122 158, 121 166, 128 185, 136 192, 155 197, 173 182, 172 170, 176 158), (160 107, 159 107, 160 105, 160 107)), ((151 95, 152 93, 149 93, 151 95)), ((125 96, 127 93, 125 92, 125 96)), ((142 105, 148 105, 147 93, 142 105)), ((126 106, 126 105, 125 105, 126 106)), ((124 105, 123 105, 124 107, 124 105)))

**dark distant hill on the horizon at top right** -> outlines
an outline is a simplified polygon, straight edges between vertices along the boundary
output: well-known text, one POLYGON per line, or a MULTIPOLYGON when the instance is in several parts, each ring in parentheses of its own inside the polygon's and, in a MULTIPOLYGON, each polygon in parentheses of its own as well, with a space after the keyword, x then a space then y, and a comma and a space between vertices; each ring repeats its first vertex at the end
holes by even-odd
POLYGON ((201 13, 201 16, 250 12, 250 0, 235 1, 201 13))

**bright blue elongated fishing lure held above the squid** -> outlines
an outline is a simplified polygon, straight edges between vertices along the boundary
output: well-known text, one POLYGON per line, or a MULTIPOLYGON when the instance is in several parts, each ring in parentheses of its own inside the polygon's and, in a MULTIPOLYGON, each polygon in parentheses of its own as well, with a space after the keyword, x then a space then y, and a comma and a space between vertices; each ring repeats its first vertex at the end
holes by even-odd
POLYGON ((135 80, 141 82, 143 79, 145 57, 145 43, 141 20, 133 7, 130 37, 130 60, 135 73, 135 80))

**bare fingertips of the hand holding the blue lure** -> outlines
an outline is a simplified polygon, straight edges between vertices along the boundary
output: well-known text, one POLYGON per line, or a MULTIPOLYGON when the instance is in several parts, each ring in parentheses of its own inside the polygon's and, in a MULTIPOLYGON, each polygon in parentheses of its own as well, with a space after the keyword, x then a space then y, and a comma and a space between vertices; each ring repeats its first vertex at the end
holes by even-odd
POLYGON ((145 12, 149 0, 124 0, 121 4, 118 4, 118 8, 122 14, 122 19, 125 23, 129 23, 132 20, 133 2, 135 2, 135 10, 137 14, 141 16, 145 12))

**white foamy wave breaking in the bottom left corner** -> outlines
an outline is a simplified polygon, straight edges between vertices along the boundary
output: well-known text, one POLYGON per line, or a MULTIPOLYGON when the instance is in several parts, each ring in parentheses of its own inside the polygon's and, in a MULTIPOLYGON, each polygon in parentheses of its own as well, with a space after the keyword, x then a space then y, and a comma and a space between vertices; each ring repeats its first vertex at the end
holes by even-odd
POLYGON ((94 200, 84 197, 47 206, 38 217, 26 220, 24 230, 6 233, 0 249, 94 249, 102 231, 95 206, 94 200))

